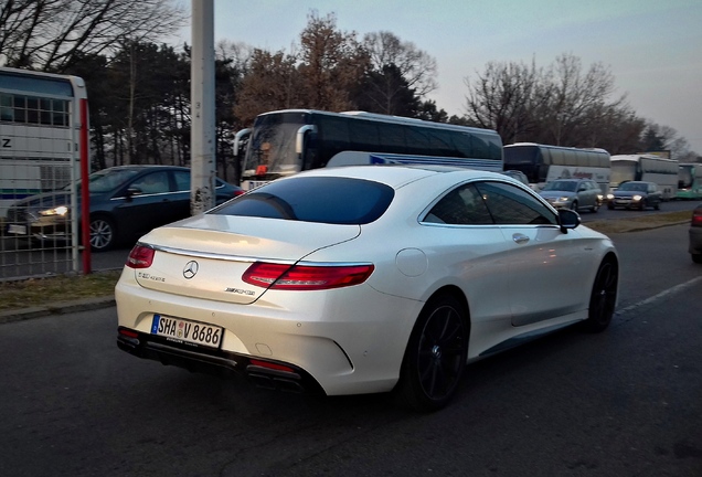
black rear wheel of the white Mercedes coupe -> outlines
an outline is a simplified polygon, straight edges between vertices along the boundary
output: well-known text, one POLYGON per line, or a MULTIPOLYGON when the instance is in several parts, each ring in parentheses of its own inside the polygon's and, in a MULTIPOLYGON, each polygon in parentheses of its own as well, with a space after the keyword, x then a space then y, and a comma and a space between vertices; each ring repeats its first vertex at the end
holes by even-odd
POLYGON ((444 407, 461 383, 468 356, 468 317, 450 295, 425 305, 414 326, 400 370, 395 395, 415 411, 444 407))

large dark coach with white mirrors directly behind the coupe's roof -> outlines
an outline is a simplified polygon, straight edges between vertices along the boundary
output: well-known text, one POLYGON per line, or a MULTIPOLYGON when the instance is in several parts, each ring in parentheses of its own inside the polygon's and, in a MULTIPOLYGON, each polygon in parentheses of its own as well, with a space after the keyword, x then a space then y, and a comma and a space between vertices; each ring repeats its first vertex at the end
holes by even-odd
MULTIPOLYGON (((497 131, 364 112, 285 109, 259 115, 236 134, 242 187, 327 167, 342 152, 366 152, 371 163, 432 163, 502 170, 497 131), (371 155, 368 155, 370 152, 371 155)), ((350 163, 350 162, 347 162, 350 163)))

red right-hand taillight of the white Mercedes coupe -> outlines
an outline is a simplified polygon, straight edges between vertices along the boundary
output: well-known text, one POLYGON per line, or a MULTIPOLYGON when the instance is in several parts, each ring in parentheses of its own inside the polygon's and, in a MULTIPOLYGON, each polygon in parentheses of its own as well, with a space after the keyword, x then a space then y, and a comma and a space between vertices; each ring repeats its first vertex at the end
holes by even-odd
POLYGON ((281 265, 256 262, 242 279, 263 288, 320 290, 359 285, 373 273, 373 265, 281 265))

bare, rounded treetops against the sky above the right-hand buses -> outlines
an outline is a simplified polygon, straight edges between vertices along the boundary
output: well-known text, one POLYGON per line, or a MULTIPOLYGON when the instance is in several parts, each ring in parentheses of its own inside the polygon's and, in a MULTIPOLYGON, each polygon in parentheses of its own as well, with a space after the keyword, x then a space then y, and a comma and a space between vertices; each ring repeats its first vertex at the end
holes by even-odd
POLYGON ((638 144, 644 130, 626 96, 611 99, 609 70, 596 63, 585 72, 573 55, 559 56, 545 71, 533 61, 488 63, 476 81, 467 77, 465 83, 467 120, 497 129, 506 144, 620 149, 638 144))

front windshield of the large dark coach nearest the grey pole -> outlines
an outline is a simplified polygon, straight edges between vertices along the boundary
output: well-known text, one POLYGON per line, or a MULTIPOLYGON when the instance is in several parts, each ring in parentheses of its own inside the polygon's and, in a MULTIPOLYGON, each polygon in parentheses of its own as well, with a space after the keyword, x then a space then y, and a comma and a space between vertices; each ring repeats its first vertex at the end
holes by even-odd
POLYGON ((260 115, 244 158, 244 177, 297 172, 297 131, 306 124, 305 113, 260 115))

